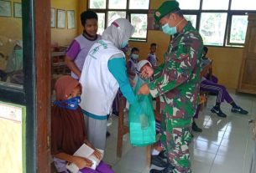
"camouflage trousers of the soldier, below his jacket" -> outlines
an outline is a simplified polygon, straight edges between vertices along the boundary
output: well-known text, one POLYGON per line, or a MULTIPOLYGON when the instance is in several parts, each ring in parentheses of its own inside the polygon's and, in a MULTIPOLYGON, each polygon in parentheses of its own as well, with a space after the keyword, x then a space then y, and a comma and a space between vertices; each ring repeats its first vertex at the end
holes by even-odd
POLYGON ((190 153, 188 145, 192 140, 191 120, 171 119, 169 114, 163 114, 161 122, 161 144, 166 150, 174 173, 191 173, 190 153), (185 125, 187 124, 187 125, 185 125), (179 127, 179 126, 182 127, 179 127), (185 127, 184 127, 185 126, 185 127))

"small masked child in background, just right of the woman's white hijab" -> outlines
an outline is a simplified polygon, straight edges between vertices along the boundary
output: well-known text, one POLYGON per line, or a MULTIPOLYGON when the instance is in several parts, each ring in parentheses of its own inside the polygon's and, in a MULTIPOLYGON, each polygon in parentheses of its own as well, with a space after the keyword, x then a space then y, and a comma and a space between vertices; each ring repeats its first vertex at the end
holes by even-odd
POLYGON ((132 48, 131 53, 129 55, 129 59, 127 62, 129 79, 134 79, 135 77, 136 69, 138 65, 138 53, 139 53, 139 49, 134 47, 132 48))

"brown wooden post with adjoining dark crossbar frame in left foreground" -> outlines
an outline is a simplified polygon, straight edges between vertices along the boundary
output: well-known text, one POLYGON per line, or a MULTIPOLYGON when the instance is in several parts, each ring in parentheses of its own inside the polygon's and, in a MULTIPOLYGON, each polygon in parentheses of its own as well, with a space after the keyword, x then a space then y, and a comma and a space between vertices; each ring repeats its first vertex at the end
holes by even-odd
POLYGON ((25 170, 50 172, 50 0, 22 0, 24 87, 0 84, 0 100, 26 106, 25 170))

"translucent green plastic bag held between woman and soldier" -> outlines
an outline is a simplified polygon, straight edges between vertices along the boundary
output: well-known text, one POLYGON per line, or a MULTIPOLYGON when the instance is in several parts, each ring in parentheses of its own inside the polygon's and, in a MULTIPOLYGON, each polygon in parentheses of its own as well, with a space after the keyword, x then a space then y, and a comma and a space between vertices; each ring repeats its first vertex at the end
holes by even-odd
MULTIPOLYGON (((144 84, 142 79, 134 89, 137 95, 138 89, 144 84)), ((134 146, 151 145, 155 142, 155 120, 154 108, 151 95, 137 95, 138 105, 130 104, 129 106, 129 130, 131 144, 134 146)))

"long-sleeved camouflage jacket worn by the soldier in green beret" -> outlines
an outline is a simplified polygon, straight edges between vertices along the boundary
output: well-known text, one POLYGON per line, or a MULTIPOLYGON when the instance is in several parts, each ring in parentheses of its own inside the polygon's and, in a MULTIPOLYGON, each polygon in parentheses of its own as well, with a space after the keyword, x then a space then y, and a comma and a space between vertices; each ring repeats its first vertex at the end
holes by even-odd
POLYGON ((177 125, 190 124, 196 111, 202 47, 201 35, 188 22, 170 42, 165 63, 154 71, 149 83, 150 94, 160 96, 161 111, 176 119, 177 125))

